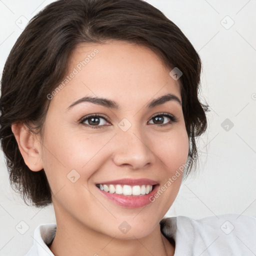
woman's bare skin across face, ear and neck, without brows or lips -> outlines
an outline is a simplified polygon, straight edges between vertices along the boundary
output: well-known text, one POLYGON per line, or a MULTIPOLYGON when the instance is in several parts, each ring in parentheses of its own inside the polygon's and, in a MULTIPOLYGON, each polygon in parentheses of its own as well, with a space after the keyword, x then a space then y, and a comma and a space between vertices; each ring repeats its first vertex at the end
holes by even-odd
MULTIPOLYGON (((161 95, 172 93, 181 101, 179 81, 169 75, 150 49, 129 42, 81 44, 74 51, 68 74, 94 49, 98 53, 50 101, 43 137, 12 124, 26 165, 44 169, 52 191, 57 230, 49 247, 54 255, 173 255, 174 246, 161 234, 159 221, 173 203, 182 175, 154 202, 139 208, 119 206, 105 198, 95 183, 119 178, 149 178, 164 185, 187 160, 188 137, 181 105, 170 100, 147 108, 161 95), (120 109, 82 102, 83 96, 116 101, 120 109), (166 112, 158 126, 154 114, 166 112), (104 114, 101 128, 91 128, 88 114, 104 114), (117 125, 126 118, 131 127, 117 125), (155 122, 155 123, 154 123, 155 122), (67 174, 80 177, 72 183, 67 174), (118 226, 126 221, 130 230, 118 226), (166 252, 167 251, 167 252, 166 252)), ((91 120, 91 119, 90 119, 91 120)), ((91 123, 91 122, 90 122, 91 123)))

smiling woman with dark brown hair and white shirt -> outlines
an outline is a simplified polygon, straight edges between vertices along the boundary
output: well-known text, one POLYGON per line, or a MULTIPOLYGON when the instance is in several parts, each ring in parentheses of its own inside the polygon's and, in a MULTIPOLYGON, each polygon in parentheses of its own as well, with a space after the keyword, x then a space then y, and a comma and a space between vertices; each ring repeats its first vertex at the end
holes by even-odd
POLYGON ((252 216, 163 218, 207 126, 200 68, 141 0, 58 0, 29 22, 4 66, 0 136, 13 186, 52 202, 56 224, 35 229, 27 256, 256 251, 252 216))

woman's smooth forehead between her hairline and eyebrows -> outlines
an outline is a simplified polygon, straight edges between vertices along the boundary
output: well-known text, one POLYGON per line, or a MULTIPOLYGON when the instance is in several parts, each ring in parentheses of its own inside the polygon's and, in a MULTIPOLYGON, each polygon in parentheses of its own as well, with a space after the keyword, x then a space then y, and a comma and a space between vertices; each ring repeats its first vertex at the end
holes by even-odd
POLYGON ((90 95, 125 105, 168 92, 180 98, 179 82, 171 78, 169 71, 160 57, 145 46, 114 40, 79 44, 70 57, 64 86, 53 100, 70 105, 90 95))

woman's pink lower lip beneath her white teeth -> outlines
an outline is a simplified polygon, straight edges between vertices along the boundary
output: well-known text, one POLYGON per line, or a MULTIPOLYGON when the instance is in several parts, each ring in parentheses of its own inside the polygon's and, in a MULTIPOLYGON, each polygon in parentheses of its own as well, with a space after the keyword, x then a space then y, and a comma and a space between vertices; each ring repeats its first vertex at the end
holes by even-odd
POLYGON ((145 206, 151 202, 150 199, 153 198, 153 195, 157 190, 158 186, 159 185, 154 185, 154 188, 152 189, 152 191, 144 195, 121 195, 116 193, 109 193, 104 190, 101 190, 98 187, 97 188, 104 196, 106 196, 108 199, 110 199, 111 201, 115 202, 120 206, 124 206, 128 208, 138 208, 138 207, 145 206))

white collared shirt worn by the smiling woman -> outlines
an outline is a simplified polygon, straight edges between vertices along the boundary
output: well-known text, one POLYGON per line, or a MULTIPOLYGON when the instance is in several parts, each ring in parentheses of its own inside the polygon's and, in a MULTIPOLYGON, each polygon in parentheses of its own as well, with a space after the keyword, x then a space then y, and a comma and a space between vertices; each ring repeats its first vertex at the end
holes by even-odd
MULTIPOLYGON (((201 219, 165 217, 162 234, 175 241, 174 256, 255 256, 256 217, 222 214, 201 219)), ((53 240, 56 224, 37 226, 33 245, 25 256, 54 256, 47 244, 53 240)))

